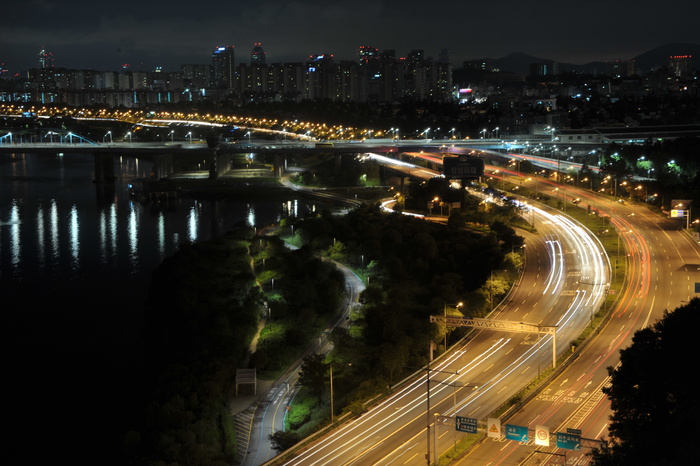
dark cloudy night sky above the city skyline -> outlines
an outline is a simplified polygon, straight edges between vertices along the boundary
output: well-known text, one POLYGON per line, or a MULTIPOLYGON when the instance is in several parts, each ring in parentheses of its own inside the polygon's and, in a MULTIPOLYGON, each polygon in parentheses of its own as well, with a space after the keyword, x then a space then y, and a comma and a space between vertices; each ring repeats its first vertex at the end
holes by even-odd
POLYGON ((38 67, 38 51, 55 66, 179 71, 210 63, 214 47, 236 47, 236 62, 261 42, 268 63, 332 54, 356 60, 361 45, 450 50, 466 59, 522 52, 584 64, 626 60, 667 43, 700 43, 697 0, 15 0, 0 14, 0 63, 11 72, 38 67))

